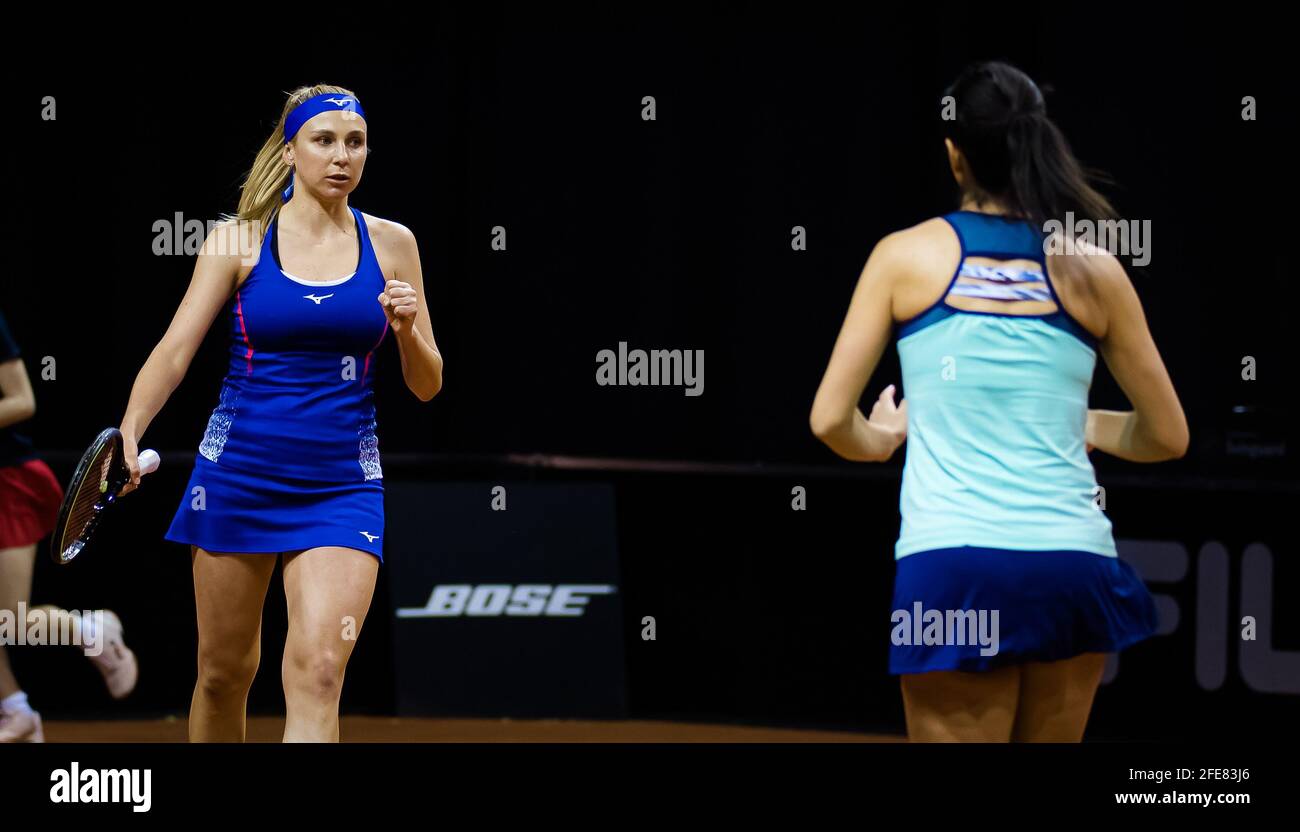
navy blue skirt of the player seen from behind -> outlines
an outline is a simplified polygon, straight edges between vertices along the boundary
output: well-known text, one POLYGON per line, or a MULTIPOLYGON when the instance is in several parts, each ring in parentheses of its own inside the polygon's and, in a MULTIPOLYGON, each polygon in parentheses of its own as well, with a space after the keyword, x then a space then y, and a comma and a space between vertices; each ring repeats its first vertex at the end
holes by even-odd
POLYGON ((1119 558, 978 546, 919 551, 898 559, 889 672, 1115 653, 1156 625, 1150 593, 1119 558))

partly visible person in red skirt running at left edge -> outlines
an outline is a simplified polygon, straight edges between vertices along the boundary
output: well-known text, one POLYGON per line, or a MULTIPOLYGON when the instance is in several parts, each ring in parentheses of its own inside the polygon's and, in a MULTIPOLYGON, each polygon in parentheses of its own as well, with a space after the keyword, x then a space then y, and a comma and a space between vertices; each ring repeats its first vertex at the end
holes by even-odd
MULTIPOLYGON (((34 615, 48 616, 48 632, 73 633, 75 644, 101 647, 87 658, 95 663, 108 692, 120 699, 135 688, 135 654, 122 642, 122 621, 110 610, 84 618, 53 606, 27 607, 36 545, 55 529, 64 490, 18 422, 36 413, 27 368, 0 313, 0 615, 25 627, 34 615), (20 607, 25 618, 20 618, 20 607), (103 621, 103 632, 94 628, 103 621), (57 628, 57 629, 56 629, 57 628)), ((0 630, 3 632, 3 630, 0 630)), ((0 638, 0 742, 44 742, 40 714, 31 710, 9 667, 0 638)))

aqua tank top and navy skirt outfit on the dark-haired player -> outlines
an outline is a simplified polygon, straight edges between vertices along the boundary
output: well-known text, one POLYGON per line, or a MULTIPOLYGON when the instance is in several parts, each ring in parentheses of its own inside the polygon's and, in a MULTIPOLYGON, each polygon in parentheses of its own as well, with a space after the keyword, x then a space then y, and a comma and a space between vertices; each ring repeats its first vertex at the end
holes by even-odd
POLYGON ((1121 650, 1157 618, 1097 507, 1084 442, 1096 338, 1057 298, 1035 225, 942 218, 961 242, 957 270, 933 306, 896 325, 907 443, 889 671, 1121 650), (963 296, 1050 311, 949 303, 963 296))

